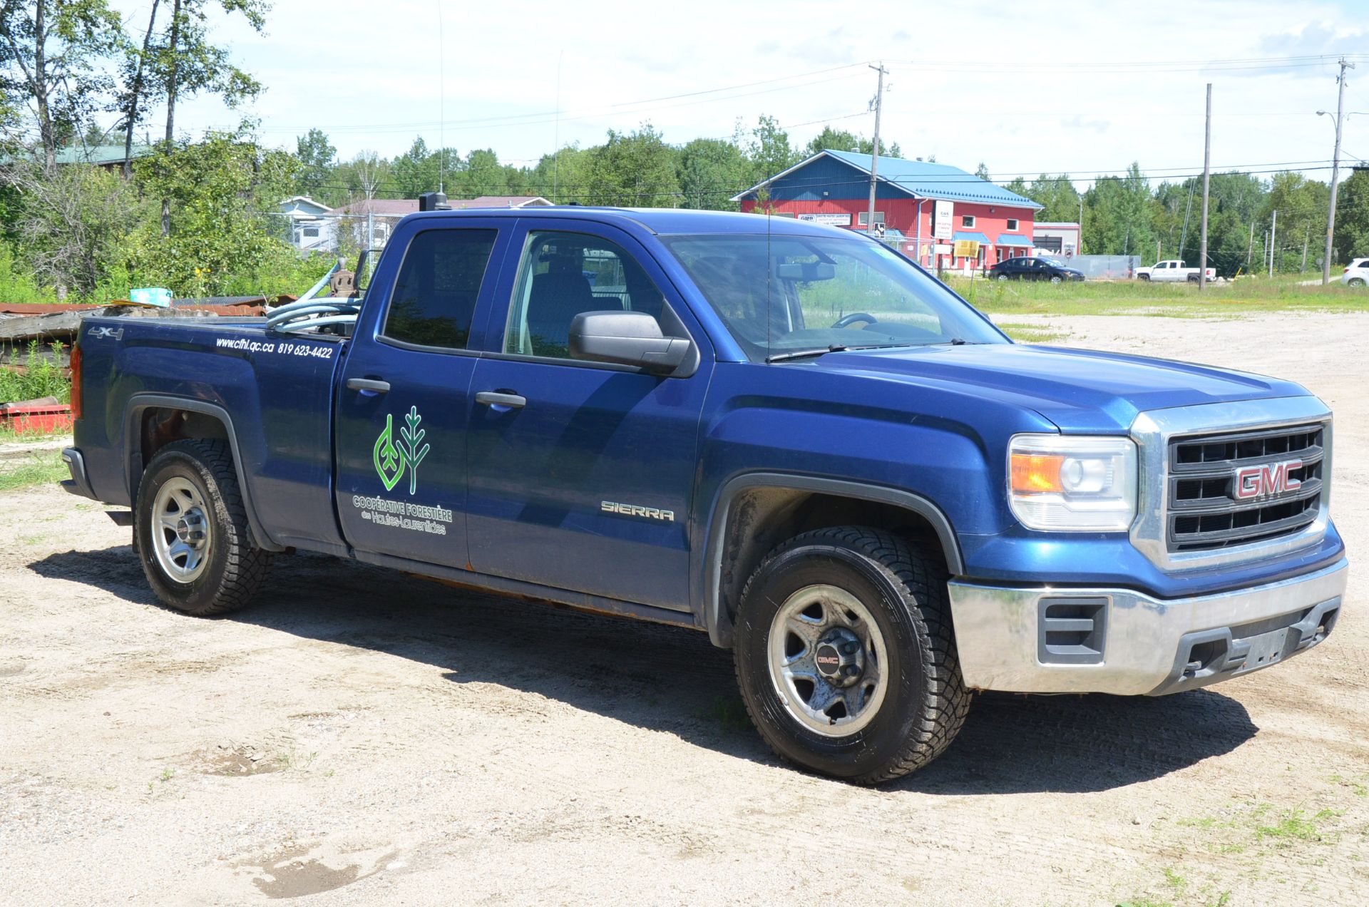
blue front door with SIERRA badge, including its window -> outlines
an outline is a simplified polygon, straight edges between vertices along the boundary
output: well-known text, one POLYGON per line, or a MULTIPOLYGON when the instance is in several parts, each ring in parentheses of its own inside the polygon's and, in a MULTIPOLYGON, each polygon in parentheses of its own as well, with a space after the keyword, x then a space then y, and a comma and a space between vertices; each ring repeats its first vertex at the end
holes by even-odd
POLYGON ((512 301, 491 311, 471 385, 471 564, 687 611, 689 514, 712 349, 626 233, 519 223, 512 301), (571 359, 571 321, 604 310, 645 311, 665 334, 691 336, 702 344, 693 374, 571 359))

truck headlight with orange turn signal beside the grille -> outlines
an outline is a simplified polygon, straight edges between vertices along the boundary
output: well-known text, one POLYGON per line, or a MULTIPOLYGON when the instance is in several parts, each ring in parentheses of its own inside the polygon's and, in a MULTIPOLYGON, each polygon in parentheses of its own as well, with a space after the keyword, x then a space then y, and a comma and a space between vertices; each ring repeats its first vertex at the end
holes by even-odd
POLYGON ((1127 532, 1136 517, 1131 438, 1014 434, 1008 501, 1028 529, 1127 532))

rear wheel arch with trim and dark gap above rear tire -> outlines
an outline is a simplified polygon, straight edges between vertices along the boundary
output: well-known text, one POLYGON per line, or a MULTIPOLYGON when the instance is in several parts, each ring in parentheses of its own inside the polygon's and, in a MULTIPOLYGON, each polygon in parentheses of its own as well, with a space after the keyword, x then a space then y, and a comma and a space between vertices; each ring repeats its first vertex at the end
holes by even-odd
POLYGON ((257 518, 252 500, 252 485, 242 469, 242 454, 238 448, 237 430, 233 426, 233 417, 229 411, 214 403, 175 397, 170 395, 142 393, 134 395, 129 400, 127 418, 125 421, 125 469, 127 470, 125 482, 129 488, 129 500, 138 500, 138 485, 142 474, 157 451, 175 441, 211 440, 225 441, 233 456, 233 469, 237 473, 238 488, 242 493, 242 504, 246 510, 248 530, 252 543, 266 551, 285 551, 283 545, 275 544, 267 534, 263 523, 257 518))

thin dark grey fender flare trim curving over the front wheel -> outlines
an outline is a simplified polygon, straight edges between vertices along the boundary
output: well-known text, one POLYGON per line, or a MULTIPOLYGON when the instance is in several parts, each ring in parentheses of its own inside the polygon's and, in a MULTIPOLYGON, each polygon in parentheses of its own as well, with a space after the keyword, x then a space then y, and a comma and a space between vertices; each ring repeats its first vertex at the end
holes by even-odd
POLYGON ((965 562, 960 554, 960 541, 950 519, 930 499, 887 485, 871 485, 865 482, 852 482, 836 478, 823 478, 817 475, 797 475, 789 473, 743 473, 734 475, 719 488, 709 511, 706 541, 704 548, 704 595, 702 617, 708 629, 708 638, 720 648, 732 645, 732 621, 723 608, 723 547, 727 541, 727 523, 731 517, 732 503, 753 488, 783 488, 838 497, 852 497, 880 504, 891 504, 912 511, 925 519, 942 551, 946 554, 946 569, 950 574, 965 573, 965 562))

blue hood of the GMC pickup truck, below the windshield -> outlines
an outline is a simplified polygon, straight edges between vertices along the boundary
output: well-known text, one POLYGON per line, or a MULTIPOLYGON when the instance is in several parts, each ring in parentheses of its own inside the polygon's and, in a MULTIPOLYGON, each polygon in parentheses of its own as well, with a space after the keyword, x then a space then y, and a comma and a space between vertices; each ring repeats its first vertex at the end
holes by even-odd
POLYGON ((827 353, 816 369, 967 390, 1028 407, 1061 432, 1125 432, 1138 412, 1305 396, 1291 381, 1187 362, 1025 344, 965 344, 827 353))

